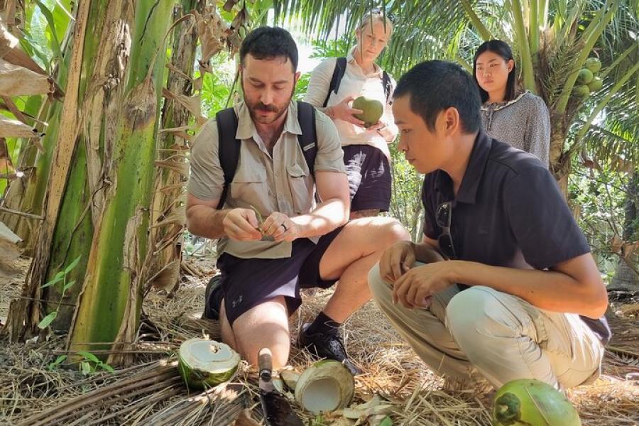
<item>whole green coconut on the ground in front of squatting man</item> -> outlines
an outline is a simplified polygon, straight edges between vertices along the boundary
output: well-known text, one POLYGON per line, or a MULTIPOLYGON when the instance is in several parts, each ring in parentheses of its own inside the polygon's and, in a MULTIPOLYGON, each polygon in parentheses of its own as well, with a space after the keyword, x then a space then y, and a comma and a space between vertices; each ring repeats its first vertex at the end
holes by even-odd
POLYGON ((535 379, 503 385, 495 395, 493 426, 580 426, 579 413, 564 394, 535 379))

